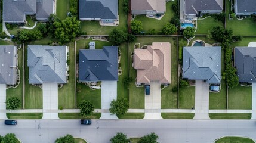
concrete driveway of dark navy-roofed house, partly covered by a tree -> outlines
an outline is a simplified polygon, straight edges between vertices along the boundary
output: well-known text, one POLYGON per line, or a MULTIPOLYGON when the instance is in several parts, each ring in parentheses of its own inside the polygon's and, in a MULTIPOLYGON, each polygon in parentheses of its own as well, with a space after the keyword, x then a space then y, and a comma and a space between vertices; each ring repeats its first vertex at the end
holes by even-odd
POLYGON ((116 115, 109 113, 110 103, 117 99, 117 81, 101 82, 101 117, 100 119, 118 119, 116 115))

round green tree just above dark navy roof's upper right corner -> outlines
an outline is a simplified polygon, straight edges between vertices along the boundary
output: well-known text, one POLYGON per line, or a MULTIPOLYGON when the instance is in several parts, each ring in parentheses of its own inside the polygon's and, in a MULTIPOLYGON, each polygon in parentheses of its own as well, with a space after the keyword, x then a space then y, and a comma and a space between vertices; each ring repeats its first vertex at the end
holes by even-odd
POLYGON ((120 29, 113 29, 110 32, 109 40, 119 46, 121 43, 127 41, 127 34, 120 29))

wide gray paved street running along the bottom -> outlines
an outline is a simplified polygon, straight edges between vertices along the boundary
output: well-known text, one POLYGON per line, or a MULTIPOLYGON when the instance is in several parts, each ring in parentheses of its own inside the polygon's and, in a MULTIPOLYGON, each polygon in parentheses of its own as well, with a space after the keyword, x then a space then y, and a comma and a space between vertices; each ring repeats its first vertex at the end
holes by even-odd
POLYGON ((79 120, 18 120, 16 126, 1 123, 0 129, 0 135, 15 133, 24 143, 53 143, 67 133, 90 143, 106 143, 116 132, 128 137, 156 132, 161 143, 211 143, 225 135, 256 141, 256 120, 92 120, 89 126, 80 125, 79 120))

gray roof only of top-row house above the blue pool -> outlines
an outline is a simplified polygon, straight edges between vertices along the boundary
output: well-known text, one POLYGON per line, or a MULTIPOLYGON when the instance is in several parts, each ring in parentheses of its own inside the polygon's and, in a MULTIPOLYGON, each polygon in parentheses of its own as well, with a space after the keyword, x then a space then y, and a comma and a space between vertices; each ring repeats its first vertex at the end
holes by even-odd
POLYGON ((223 10, 223 0, 184 0, 185 14, 198 14, 198 11, 223 10))

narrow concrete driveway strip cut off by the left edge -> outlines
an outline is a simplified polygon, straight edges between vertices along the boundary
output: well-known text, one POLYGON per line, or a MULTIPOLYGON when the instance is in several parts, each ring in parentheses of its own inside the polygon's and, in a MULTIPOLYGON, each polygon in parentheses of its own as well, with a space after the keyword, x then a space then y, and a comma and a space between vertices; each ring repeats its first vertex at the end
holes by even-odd
MULTIPOLYGON (((0 110, 6 110, 6 85, 0 84, 0 110)), ((0 111, 0 119, 7 119, 6 113, 0 111)))

